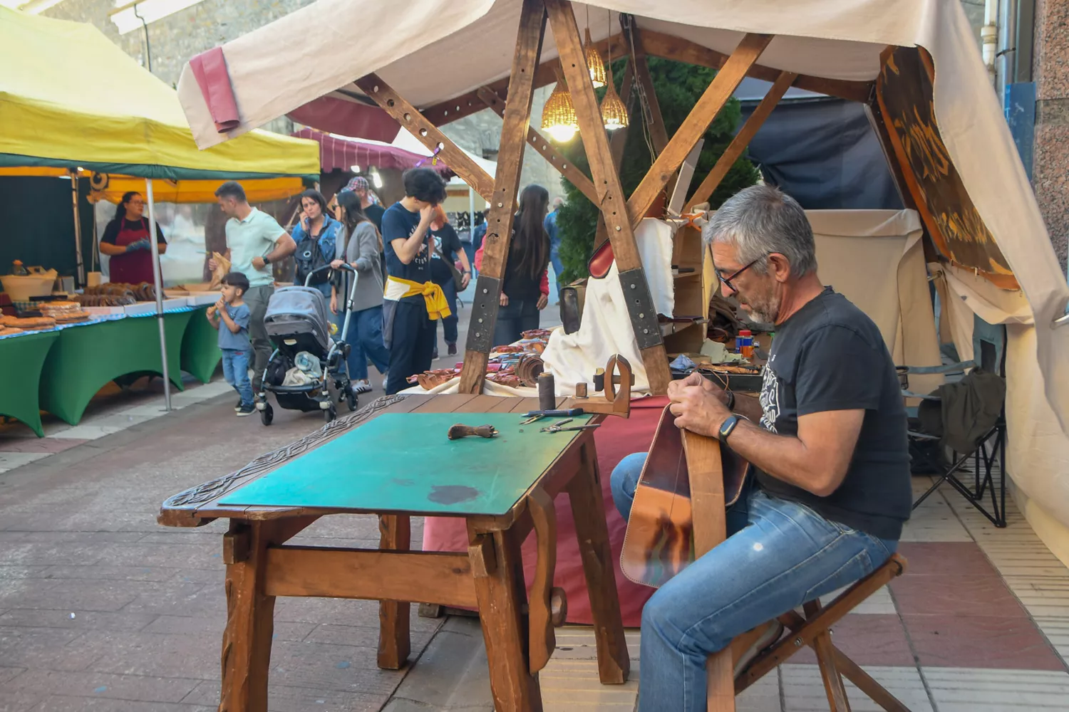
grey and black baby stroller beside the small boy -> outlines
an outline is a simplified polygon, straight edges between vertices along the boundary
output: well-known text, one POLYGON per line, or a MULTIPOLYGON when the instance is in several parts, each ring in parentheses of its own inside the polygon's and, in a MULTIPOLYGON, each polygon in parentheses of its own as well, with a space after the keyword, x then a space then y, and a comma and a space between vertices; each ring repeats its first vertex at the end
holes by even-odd
POLYGON ((263 385, 255 402, 264 425, 270 425, 275 417, 267 402, 268 393, 274 393, 278 405, 288 410, 322 411, 327 423, 338 416, 342 400, 351 411, 356 410, 356 394, 345 367, 350 350, 345 335, 356 289, 356 270, 350 265, 341 267, 353 272, 353 290, 345 301, 341 336, 332 339, 323 292, 309 286, 312 274, 329 269, 329 265, 324 265, 312 270, 303 287, 276 289, 267 302, 264 327, 275 351, 264 368, 263 385))

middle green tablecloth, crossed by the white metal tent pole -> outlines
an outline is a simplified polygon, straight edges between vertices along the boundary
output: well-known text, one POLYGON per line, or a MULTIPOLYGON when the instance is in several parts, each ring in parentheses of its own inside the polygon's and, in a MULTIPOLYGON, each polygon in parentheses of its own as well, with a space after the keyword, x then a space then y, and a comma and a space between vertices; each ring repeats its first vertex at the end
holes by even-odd
MULTIPOLYGON (((191 316, 192 310, 164 315, 167 366, 179 391, 183 390, 179 354, 191 316)), ((41 408, 76 425, 97 391, 134 373, 164 373, 155 316, 67 327, 59 332, 41 374, 41 408)))

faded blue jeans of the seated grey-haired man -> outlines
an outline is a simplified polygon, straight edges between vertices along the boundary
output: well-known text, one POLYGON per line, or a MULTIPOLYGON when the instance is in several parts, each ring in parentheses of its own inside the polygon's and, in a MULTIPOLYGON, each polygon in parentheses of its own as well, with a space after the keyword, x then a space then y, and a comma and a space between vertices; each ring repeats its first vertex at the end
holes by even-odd
MULTIPOLYGON (((646 453, 613 470, 628 519, 646 453)), ((706 659, 807 601, 871 573, 897 541, 828 521, 757 487, 729 511, 728 538, 657 589, 642 610, 638 710, 706 709, 706 659)))

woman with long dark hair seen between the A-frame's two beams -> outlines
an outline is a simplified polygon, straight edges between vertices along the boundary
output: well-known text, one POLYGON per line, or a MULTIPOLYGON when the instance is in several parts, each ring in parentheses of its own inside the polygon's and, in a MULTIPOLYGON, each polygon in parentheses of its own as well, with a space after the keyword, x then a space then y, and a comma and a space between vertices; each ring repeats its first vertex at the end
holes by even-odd
MULTIPOLYGON (((494 327, 494 346, 512 344, 523 332, 539 327, 539 312, 549 303, 546 268, 549 265, 549 236, 545 216, 549 191, 531 184, 520 193, 520 209, 512 219, 509 258, 501 280, 500 311, 494 327)), ((475 256, 482 267, 482 249, 475 256)))

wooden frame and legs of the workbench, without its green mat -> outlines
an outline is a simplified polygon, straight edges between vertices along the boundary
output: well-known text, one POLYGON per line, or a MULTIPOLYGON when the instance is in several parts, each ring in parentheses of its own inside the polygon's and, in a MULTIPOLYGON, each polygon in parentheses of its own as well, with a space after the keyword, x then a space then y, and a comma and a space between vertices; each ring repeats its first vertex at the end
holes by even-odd
MULTIPOLYGON (((410 551, 409 518, 441 511, 374 511, 307 507, 250 507, 220 501, 270 471, 384 413, 514 413, 538 408, 534 398, 474 395, 387 396, 223 477, 167 500, 167 526, 200 526, 229 519, 223 535, 227 628, 222 640, 220 709, 267 709, 273 613, 278 596, 379 600, 378 666, 397 669, 409 653, 409 602, 478 608, 498 710, 541 710, 537 673, 554 649, 549 622, 563 619, 560 591, 551 589, 556 552, 553 499, 568 492, 590 596, 602 683, 620 684, 630 670, 613 574, 602 487, 591 430, 580 431, 503 516, 463 515, 468 553, 410 551), (284 545, 320 517, 365 511, 378 516, 377 550, 284 545), (527 601, 521 544, 538 529, 538 573, 527 601), (548 533, 548 536, 543 536, 548 533), (541 577, 541 580, 540 580, 541 577), (552 590, 552 592, 551 592, 552 590)), ((471 423, 471 425, 480 425, 471 423)), ((566 436, 547 436, 566 437, 566 436)), ((443 433, 445 439, 445 433, 443 433)), ((400 466, 400 464, 399 464, 400 466)), ((443 463, 443 466, 448 464, 443 463)), ((456 466, 463 466, 458 463, 456 466)), ((445 516, 450 516, 448 512, 445 516)))

